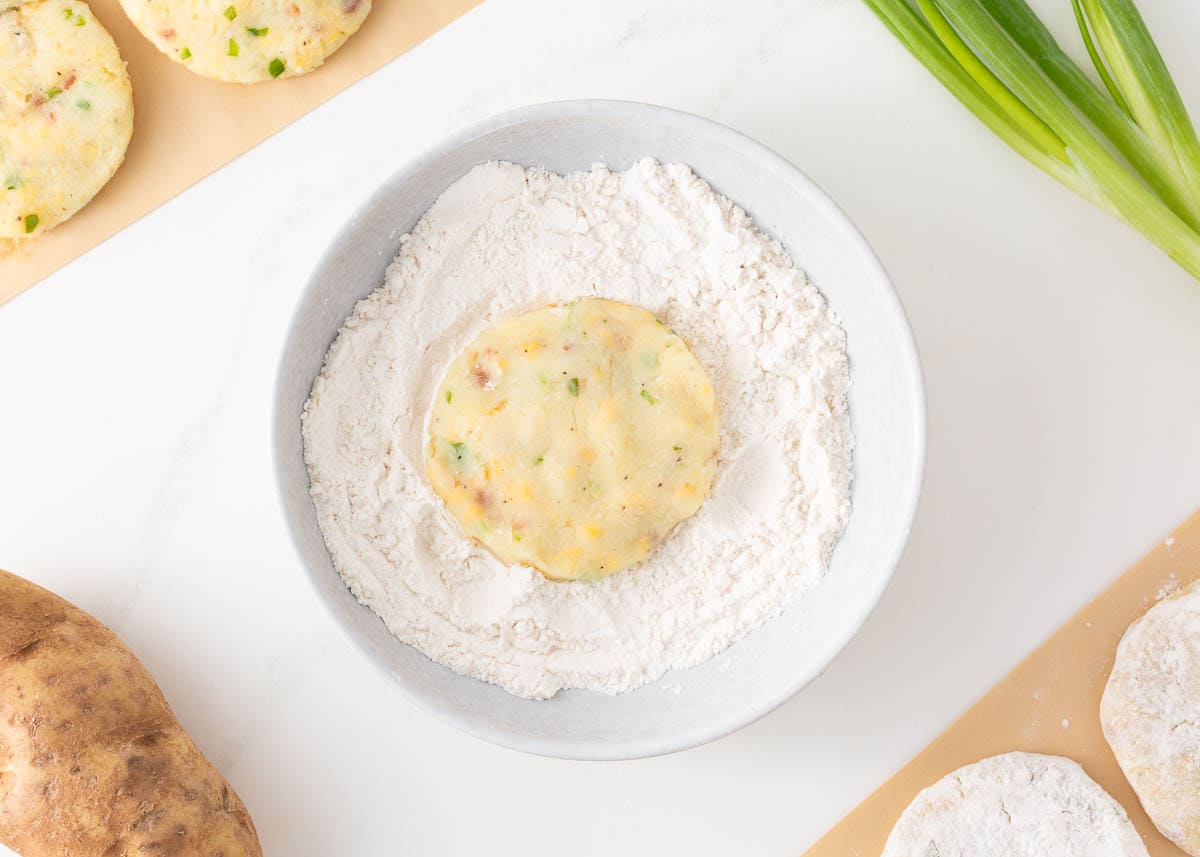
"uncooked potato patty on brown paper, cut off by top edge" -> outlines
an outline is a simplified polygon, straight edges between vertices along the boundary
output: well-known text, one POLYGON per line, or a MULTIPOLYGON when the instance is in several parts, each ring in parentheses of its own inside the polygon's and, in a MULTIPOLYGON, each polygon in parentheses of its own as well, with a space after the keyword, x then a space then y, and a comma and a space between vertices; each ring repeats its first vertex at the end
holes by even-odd
POLYGON ((362 26, 371 0, 121 0, 161 52, 197 74, 257 83, 312 71, 362 26))

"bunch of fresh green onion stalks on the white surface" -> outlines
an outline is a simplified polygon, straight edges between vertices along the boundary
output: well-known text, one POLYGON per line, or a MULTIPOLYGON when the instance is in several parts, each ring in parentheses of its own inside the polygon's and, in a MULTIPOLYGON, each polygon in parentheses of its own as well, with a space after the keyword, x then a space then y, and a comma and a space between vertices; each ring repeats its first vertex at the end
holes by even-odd
POLYGON ((1200 140, 1166 64, 1133 0, 1072 1, 1105 89, 1026 0, 865 0, 1018 154, 1200 278, 1200 140))

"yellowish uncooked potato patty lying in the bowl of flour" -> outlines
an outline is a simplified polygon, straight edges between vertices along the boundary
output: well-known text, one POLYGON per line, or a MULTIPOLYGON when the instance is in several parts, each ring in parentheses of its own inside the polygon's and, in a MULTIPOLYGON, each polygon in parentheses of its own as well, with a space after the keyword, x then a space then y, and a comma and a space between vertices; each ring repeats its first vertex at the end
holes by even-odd
POLYGON ((426 468, 502 561, 595 580, 695 514, 716 450, 713 385, 686 343, 646 310, 589 299, 467 347, 433 401, 426 468))

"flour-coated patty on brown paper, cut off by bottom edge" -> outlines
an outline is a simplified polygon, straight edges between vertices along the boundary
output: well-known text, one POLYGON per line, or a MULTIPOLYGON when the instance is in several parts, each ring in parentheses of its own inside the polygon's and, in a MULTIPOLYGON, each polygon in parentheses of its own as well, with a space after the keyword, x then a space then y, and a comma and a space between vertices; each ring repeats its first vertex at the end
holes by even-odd
POLYGON ((1069 759, 1006 753, 917 795, 883 857, 1147 857, 1117 803, 1069 759))

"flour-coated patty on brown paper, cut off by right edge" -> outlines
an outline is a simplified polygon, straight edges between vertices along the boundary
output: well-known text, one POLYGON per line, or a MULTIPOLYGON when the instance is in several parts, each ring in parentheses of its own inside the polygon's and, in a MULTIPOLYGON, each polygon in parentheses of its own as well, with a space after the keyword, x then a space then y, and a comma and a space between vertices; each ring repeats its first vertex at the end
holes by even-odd
MULTIPOLYGON (((1175 575, 1163 586, 1169 594, 1175 575)), ((1151 821, 1200 855, 1200 582, 1129 625, 1100 699, 1100 725, 1151 821)))

